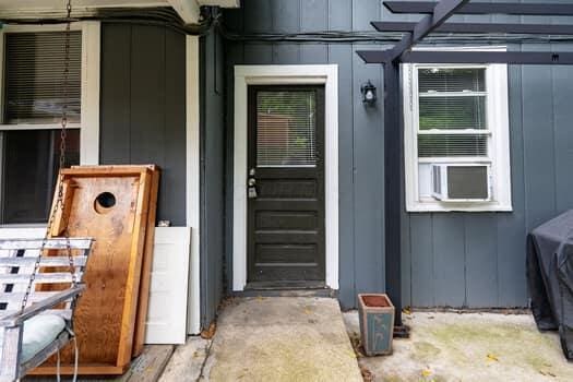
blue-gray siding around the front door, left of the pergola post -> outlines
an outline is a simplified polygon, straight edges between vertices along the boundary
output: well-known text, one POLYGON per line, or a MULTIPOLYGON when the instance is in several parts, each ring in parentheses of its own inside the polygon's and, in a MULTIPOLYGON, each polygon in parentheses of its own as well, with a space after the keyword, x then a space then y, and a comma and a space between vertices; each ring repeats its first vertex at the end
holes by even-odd
MULTIPOLYGON (((380 1, 243 1, 227 10, 225 23, 241 33, 368 29, 381 15, 380 1)), ((382 87, 382 68, 365 65, 355 50, 359 45, 261 44, 227 41, 227 131, 232 132, 234 65, 338 64, 339 82, 339 298, 355 307, 357 293, 383 290, 384 279, 384 129, 383 108, 365 108, 360 84, 371 80, 382 87)), ((232 141, 227 157, 232 158, 232 141)), ((227 160, 232 174, 232 160, 227 160)), ((227 177, 227 189, 232 188, 227 177)), ((232 195, 227 195, 227 238, 230 240, 232 195)), ((227 262, 230 268, 230 247, 227 262)), ((232 275, 228 273, 230 279, 232 275)))

